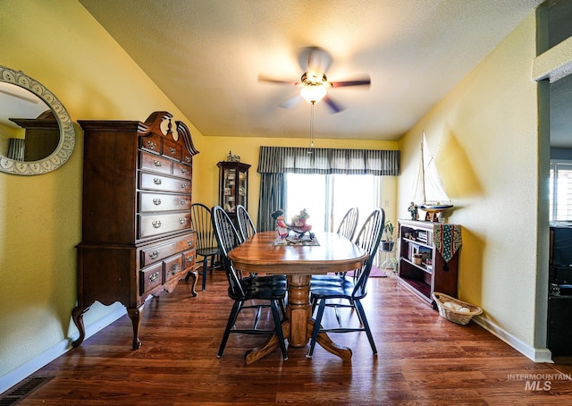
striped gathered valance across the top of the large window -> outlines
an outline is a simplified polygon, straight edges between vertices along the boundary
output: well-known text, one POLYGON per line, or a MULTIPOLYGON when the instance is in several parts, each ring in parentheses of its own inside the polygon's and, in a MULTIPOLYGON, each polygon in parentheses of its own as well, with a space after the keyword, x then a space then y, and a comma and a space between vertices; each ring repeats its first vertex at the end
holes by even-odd
POLYGON ((397 176, 400 151, 382 149, 260 147, 258 173, 345 173, 397 176))

